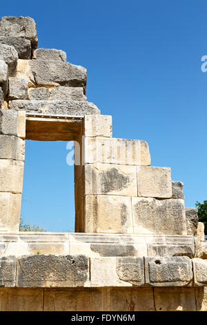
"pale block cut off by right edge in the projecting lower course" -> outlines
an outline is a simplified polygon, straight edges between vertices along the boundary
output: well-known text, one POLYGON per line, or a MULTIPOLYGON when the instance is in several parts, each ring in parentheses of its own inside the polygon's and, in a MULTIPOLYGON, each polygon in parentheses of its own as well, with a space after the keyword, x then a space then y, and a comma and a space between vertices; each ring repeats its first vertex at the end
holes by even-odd
POLYGON ((193 259, 193 273, 195 286, 207 285, 207 261, 203 259, 193 259))

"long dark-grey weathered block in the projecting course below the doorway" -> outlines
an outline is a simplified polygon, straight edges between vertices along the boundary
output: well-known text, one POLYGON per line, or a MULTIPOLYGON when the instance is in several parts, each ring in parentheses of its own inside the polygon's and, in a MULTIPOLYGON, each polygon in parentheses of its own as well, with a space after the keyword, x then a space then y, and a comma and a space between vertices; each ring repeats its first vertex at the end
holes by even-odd
POLYGON ((17 263, 17 286, 77 287, 88 281, 88 257, 85 255, 29 255, 17 263))

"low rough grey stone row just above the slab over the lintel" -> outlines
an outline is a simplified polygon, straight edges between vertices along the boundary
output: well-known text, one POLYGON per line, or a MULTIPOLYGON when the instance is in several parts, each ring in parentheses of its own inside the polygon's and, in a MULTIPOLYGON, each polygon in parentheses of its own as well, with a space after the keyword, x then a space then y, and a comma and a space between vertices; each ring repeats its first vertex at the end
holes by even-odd
POLYGON ((86 100, 82 87, 30 88, 28 94, 29 100, 86 100))

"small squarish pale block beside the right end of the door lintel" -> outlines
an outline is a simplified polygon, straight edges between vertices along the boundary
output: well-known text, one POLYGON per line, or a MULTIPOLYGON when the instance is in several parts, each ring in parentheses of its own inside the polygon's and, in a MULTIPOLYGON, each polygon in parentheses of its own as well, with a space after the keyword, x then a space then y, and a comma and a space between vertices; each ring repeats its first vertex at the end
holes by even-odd
POLYGON ((84 136, 112 137, 112 116, 110 115, 87 115, 84 118, 84 136))

